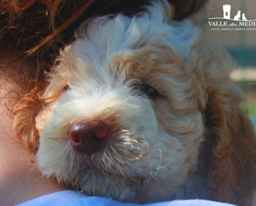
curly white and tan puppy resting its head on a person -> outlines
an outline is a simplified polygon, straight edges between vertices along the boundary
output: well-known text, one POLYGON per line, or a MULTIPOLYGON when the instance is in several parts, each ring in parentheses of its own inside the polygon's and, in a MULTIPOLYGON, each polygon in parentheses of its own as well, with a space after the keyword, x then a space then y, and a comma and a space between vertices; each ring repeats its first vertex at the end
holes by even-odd
POLYGON ((14 111, 43 175, 124 202, 252 204, 253 126, 231 57, 156 1, 81 25, 48 81, 14 111))

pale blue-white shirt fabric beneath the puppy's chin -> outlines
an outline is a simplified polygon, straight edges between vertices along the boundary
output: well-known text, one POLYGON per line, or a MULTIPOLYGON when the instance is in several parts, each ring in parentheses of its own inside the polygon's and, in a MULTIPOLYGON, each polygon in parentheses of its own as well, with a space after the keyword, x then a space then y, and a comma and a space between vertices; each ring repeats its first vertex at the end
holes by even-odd
MULTIPOLYGON (((90 197, 76 191, 63 191, 44 195, 17 206, 139 206, 135 203, 123 203, 104 197, 90 197)), ((232 204, 209 200, 173 200, 144 204, 145 206, 232 206, 232 204)))

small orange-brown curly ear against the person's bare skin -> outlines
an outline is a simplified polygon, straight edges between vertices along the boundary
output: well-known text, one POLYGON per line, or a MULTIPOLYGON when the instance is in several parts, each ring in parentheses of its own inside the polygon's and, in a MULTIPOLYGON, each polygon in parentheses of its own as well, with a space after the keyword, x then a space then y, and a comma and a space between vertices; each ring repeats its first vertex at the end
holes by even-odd
POLYGON ((39 132, 36 128, 36 116, 42 109, 41 95, 45 86, 44 84, 44 82, 37 83, 36 87, 21 99, 13 112, 14 134, 33 153, 39 147, 39 132))

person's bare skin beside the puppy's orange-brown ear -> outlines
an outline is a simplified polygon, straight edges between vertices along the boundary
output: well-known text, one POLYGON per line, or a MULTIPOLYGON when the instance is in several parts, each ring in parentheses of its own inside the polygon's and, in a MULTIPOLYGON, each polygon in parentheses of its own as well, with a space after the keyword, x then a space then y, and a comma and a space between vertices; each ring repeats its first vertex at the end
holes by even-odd
MULTIPOLYGON (((29 62, 17 63, 26 67, 29 62)), ((15 138, 12 131, 12 110, 25 93, 20 85, 22 75, 15 66, 5 68, 8 62, 0 60, 0 205, 12 206, 37 197, 67 190, 55 180, 43 177, 36 166, 34 155, 15 138), (10 72, 10 70, 13 70, 10 72), (12 75, 10 75, 12 74, 12 75)))

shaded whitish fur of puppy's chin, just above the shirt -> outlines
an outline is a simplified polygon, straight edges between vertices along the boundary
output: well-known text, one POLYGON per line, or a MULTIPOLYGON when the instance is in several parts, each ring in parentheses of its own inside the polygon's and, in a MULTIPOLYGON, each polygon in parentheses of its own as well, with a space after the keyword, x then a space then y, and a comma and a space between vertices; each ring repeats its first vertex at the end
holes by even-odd
POLYGON ((166 194, 162 196, 157 191, 157 186, 170 187, 159 183, 157 179, 148 180, 143 176, 124 177, 118 174, 113 176, 113 172, 98 168, 88 168, 83 172, 87 175, 86 179, 83 175, 73 180, 78 184, 70 184, 65 180, 60 183, 89 196, 103 196, 122 202, 149 203, 173 200, 176 197, 174 194, 168 194, 168 197, 166 194))

